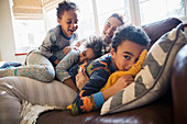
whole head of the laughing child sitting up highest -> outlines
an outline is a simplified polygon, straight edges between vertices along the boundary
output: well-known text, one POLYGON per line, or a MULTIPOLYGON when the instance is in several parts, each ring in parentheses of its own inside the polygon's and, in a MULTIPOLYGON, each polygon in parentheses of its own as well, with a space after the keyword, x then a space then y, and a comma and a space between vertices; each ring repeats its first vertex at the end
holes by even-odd
POLYGON ((66 37, 70 37, 78 29, 77 11, 78 5, 74 2, 64 0, 56 8, 57 22, 62 26, 62 31, 66 37))

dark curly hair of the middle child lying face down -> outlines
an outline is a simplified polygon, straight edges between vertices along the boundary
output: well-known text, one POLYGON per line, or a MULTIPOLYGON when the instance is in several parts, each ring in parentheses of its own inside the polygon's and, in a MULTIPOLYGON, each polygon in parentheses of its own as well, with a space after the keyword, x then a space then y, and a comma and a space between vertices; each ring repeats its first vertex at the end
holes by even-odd
POLYGON ((103 38, 100 36, 90 36, 89 40, 85 43, 86 48, 92 48, 95 53, 95 58, 101 56, 103 38))

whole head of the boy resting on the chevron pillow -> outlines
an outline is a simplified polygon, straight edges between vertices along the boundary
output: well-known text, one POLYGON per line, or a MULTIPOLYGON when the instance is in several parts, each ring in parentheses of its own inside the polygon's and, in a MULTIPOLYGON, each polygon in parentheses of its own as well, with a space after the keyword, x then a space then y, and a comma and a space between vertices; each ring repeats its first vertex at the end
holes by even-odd
POLYGON ((116 70, 129 70, 148 43, 150 38, 141 27, 120 26, 112 38, 110 50, 116 70))

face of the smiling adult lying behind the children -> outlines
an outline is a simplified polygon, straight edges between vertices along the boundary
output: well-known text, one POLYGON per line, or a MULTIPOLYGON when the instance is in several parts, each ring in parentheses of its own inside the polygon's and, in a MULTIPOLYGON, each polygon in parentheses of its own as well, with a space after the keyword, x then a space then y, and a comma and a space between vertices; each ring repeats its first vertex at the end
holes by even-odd
POLYGON ((117 31, 117 27, 122 25, 122 23, 117 19, 117 18, 110 18, 105 27, 103 27, 103 32, 102 32, 102 36, 105 38, 105 41, 107 42, 107 44, 111 43, 111 38, 114 34, 114 32, 117 31))

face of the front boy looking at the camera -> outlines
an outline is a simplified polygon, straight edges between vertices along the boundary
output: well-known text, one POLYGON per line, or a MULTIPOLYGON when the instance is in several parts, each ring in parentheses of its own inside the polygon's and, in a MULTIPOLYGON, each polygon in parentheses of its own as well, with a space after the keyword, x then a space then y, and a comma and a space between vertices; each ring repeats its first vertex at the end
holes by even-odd
POLYGON ((116 70, 127 71, 129 70, 139 59, 144 46, 136 44, 131 41, 123 41, 114 52, 111 48, 111 57, 116 70))

